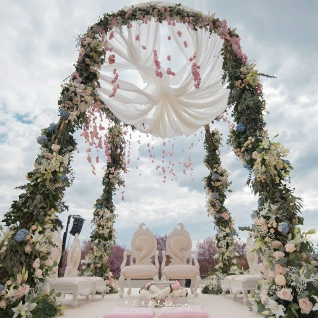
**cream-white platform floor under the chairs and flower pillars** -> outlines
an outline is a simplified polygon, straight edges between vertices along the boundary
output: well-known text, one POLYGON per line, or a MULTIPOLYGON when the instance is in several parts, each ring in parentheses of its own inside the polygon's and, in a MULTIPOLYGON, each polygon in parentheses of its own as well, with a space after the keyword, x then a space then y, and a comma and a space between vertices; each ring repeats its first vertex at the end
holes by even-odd
MULTIPOLYGON (((72 308, 72 295, 66 295, 64 304, 66 305, 65 315, 63 318, 102 318, 115 307, 134 307, 138 306, 140 288, 132 288, 131 295, 126 294, 123 298, 119 294, 106 294, 104 298, 96 295, 96 301, 87 303, 85 297, 79 296, 77 308, 72 308), (135 303, 134 303, 135 301, 135 303)), ((190 292, 190 290, 189 290, 190 292)), ((207 295, 199 293, 198 297, 188 295, 189 305, 200 305, 209 314, 210 318, 260 318, 261 315, 255 314, 248 310, 243 304, 243 297, 238 296, 237 301, 231 301, 229 295, 207 295)))

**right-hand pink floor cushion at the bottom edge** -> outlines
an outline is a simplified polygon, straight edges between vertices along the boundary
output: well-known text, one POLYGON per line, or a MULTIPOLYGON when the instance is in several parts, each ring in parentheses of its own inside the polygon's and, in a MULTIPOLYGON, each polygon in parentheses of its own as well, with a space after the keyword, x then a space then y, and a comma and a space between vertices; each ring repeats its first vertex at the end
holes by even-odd
POLYGON ((160 318, 209 318, 201 306, 163 307, 160 318))

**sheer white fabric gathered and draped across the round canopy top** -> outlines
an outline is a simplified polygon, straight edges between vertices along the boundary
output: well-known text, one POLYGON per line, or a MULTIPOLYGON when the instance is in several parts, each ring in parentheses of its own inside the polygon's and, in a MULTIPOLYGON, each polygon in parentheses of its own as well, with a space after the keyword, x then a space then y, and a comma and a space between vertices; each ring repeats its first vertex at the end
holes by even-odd
POLYGON ((226 108, 229 90, 221 79, 222 44, 223 40, 215 34, 210 36, 204 29, 193 31, 179 23, 169 26, 154 21, 134 22, 132 28, 114 28, 114 38, 108 40, 113 51, 107 52, 101 67, 100 98, 117 118, 140 132, 162 138, 191 135, 226 108), (161 63, 158 71, 162 78, 155 74, 154 50, 161 63), (195 52, 196 58, 190 61, 195 52), (110 54, 115 55, 114 64, 108 63, 110 54), (193 62, 200 66, 199 89, 194 87, 193 62), (168 67, 175 76, 166 73, 168 67), (112 84, 114 69, 119 76, 112 84), (117 84, 119 88, 110 98, 117 84))

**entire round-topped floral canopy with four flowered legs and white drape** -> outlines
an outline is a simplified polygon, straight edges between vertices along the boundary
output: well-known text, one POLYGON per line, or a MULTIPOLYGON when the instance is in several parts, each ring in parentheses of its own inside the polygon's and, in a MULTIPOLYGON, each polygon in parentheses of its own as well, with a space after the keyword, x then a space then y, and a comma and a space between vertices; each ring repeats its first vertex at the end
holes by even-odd
POLYGON ((44 313, 53 317, 62 308, 60 295, 50 291, 47 283, 57 268, 50 258, 51 233, 61 225, 58 215, 65 209, 64 191, 73 181, 70 163, 77 145, 73 134, 79 129, 90 146, 87 159, 93 172, 91 148, 104 149, 106 156, 104 189, 94 204, 95 229, 82 274, 110 281, 113 195, 124 186, 128 129, 171 137, 205 127, 204 162, 210 174, 204 186, 208 213, 218 230, 218 272, 207 284, 218 294, 218 277, 237 272, 231 253, 236 231, 224 206, 230 182, 218 152, 221 136, 211 131, 210 124, 229 121, 225 112, 230 109, 235 124, 230 124, 227 143, 249 170, 247 183, 259 196, 250 230, 255 252, 263 260, 264 279, 252 297, 251 309, 265 317, 315 317, 318 267, 308 241, 315 231, 301 232, 299 227, 302 204, 288 186, 293 169, 286 159, 289 151, 276 141, 278 135, 270 138, 265 129, 260 77, 267 75, 243 53, 236 30, 225 20, 180 4, 143 3, 104 14, 78 38, 78 47, 75 71, 63 83, 58 100, 59 121, 42 129, 34 169, 26 174, 23 193, 3 219, 1 317, 44 313), (166 40, 177 45, 186 59, 178 70, 169 66, 169 52, 164 61, 165 50, 159 52, 162 27, 166 40), (138 75, 135 83, 129 81, 133 74, 138 75))

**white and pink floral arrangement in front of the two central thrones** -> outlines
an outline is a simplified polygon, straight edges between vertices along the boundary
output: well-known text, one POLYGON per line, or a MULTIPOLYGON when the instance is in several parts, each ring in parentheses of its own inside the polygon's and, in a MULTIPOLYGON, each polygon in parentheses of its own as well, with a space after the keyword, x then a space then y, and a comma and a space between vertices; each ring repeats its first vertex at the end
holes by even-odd
POLYGON ((188 291, 181 287, 179 281, 163 289, 149 282, 140 289, 139 294, 140 297, 149 301, 149 307, 155 308, 156 306, 162 306, 164 304, 167 306, 171 305, 173 298, 186 297, 188 296, 188 291))

